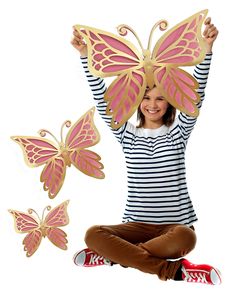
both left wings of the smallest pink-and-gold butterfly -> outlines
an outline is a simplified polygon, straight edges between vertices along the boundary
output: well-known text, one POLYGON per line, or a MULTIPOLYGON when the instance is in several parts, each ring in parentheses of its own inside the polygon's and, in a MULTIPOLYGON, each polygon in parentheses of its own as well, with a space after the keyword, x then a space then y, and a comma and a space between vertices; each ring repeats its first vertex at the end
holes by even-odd
POLYGON ((19 233, 28 233, 23 240, 26 256, 32 256, 38 249, 42 240, 39 223, 33 216, 17 210, 9 210, 14 218, 15 229, 19 233))

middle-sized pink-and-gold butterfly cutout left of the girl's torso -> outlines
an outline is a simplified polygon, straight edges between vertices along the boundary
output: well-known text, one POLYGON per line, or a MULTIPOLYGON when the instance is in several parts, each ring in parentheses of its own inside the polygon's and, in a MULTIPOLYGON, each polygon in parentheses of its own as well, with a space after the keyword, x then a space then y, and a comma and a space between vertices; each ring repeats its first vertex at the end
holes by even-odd
POLYGON ((31 167, 44 165, 40 181, 44 183, 44 190, 48 191, 49 198, 54 198, 60 191, 66 174, 66 167, 73 164, 84 174, 103 179, 103 164, 100 156, 86 148, 97 144, 100 136, 93 122, 94 107, 85 113, 69 130, 65 142, 63 128, 70 127, 66 121, 61 127, 61 142, 48 130, 40 130, 41 137, 13 136, 23 149, 26 163, 31 167), (50 134, 56 143, 44 138, 50 134))

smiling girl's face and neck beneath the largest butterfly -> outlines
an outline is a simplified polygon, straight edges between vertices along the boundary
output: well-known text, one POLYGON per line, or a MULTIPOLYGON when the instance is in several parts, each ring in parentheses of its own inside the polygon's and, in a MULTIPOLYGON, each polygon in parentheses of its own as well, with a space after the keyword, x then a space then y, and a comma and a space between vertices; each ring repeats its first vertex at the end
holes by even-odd
POLYGON ((144 127, 158 128, 163 125, 163 116, 169 103, 161 96, 157 87, 146 91, 140 104, 140 110, 145 117, 144 127))

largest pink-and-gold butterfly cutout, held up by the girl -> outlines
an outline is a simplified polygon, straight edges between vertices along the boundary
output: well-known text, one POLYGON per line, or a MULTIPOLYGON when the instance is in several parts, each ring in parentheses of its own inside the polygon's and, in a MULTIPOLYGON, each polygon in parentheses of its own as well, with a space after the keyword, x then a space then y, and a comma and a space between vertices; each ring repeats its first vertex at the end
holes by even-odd
POLYGON ((84 25, 75 26, 88 46, 90 72, 99 77, 118 76, 104 96, 106 114, 112 115, 113 128, 119 128, 129 119, 142 101, 146 88, 153 86, 180 111, 190 116, 198 115, 198 82, 179 67, 193 66, 204 59, 206 49, 201 26, 207 12, 200 11, 168 30, 156 42, 152 52, 153 32, 158 26, 165 30, 165 20, 153 26, 147 49, 143 48, 132 28, 127 25, 117 28, 122 36, 131 31, 141 52, 130 41, 113 33, 84 25))

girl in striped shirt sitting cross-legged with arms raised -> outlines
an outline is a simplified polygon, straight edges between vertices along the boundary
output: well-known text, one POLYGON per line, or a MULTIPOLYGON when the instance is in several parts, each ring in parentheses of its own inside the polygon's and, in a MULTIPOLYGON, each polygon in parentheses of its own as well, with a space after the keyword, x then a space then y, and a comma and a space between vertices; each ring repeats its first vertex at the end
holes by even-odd
MULTIPOLYGON (((205 95, 212 46, 218 35, 210 18, 205 25, 207 54, 194 71, 201 96, 199 108, 205 95)), ((88 71, 87 46, 76 30, 72 45, 81 54, 97 109, 110 125, 103 98, 105 83, 88 71)), ((197 217, 188 195, 184 160, 196 118, 184 113, 175 118, 175 113, 175 108, 154 87, 146 90, 138 108, 137 127, 126 122, 119 129, 111 129, 126 158, 128 198, 123 223, 91 227, 85 236, 88 248, 74 256, 76 265, 118 263, 156 274, 161 280, 221 283, 219 271, 214 267, 183 259, 196 244, 193 223, 197 217)))

